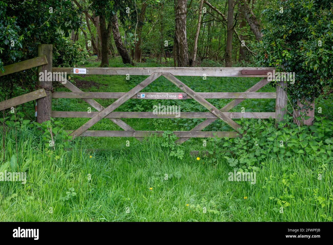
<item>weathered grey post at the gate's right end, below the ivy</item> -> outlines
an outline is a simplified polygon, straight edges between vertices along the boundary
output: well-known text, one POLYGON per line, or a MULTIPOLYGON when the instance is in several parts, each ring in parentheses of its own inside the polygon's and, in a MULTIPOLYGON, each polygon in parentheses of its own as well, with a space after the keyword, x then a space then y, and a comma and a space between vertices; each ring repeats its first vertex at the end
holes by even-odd
POLYGON ((287 82, 280 81, 276 85, 276 100, 275 100, 275 126, 279 124, 279 121, 283 120, 283 116, 287 113, 287 82), (284 109, 285 108, 285 109, 284 109))

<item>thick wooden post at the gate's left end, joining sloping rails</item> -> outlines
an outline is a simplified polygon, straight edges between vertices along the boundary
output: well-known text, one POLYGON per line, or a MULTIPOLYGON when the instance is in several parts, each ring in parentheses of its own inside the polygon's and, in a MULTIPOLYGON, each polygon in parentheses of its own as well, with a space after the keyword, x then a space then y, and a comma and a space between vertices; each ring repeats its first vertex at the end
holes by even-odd
MULTIPOLYGON (((52 74, 52 44, 38 44, 38 56, 46 56, 48 64, 37 68, 37 87, 44 88, 46 97, 37 100, 37 122, 42 123, 50 120, 52 110, 52 79, 48 81, 48 72, 52 74), (43 72, 43 78, 39 75, 43 72), (41 79, 40 79, 41 78, 41 79), (46 79, 45 79, 46 78, 46 79)), ((53 76, 51 76, 53 77, 53 76)))

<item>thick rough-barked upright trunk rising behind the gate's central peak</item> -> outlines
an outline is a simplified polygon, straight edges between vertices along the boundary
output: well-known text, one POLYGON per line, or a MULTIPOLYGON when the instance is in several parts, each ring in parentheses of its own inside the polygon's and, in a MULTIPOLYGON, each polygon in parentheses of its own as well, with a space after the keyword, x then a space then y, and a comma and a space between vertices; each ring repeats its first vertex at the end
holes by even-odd
POLYGON ((186 0, 177 0, 176 7, 176 46, 178 67, 188 67, 188 46, 186 37, 186 0))

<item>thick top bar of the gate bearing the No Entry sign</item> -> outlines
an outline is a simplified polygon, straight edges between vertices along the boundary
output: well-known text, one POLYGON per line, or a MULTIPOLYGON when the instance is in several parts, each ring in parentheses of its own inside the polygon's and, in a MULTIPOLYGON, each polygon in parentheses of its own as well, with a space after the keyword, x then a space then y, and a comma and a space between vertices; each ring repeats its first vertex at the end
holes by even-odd
MULTIPOLYGON (((95 75, 145 75, 171 73, 173 76, 207 77, 268 77, 266 74, 242 74, 242 70, 273 71, 274 67, 82 67, 86 74, 95 75)), ((53 67, 53 72, 73 74, 74 67, 53 67)), ((267 72, 268 72, 267 71, 267 72)), ((262 73, 262 72, 261 72, 262 73)))

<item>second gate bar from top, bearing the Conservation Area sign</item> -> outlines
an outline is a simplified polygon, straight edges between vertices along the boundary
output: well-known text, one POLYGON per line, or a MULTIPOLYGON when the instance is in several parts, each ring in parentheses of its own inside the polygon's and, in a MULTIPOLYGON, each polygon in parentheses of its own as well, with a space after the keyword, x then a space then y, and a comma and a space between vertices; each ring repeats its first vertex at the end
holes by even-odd
MULTIPOLYGON (((70 99, 119 99, 126 93, 122 92, 53 92, 53 98, 70 98, 70 99)), ((186 93, 138 93, 132 96, 132 99, 192 99, 186 95, 185 98, 179 98, 178 95, 186 95, 186 93), (141 98, 141 94, 145 94, 145 98, 141 98), (174 95, 176 97, 164 97, 164 95, 174 95), (148 95, 156 95, 156 97, 147 97, 148 95)), ((205 99, 276 99, 275 92, 203 92, 197 93, 205 99)))

